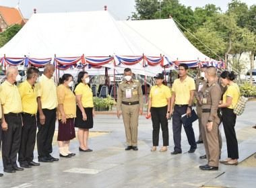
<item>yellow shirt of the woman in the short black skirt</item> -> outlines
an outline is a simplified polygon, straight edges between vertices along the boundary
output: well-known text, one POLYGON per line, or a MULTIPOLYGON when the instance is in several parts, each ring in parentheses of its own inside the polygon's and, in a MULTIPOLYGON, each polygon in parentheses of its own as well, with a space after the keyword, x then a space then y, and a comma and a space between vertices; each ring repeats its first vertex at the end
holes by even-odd
POLYGON ((94 107, 94 102, 92 101, 92 89, 84 83, 79 83, 77 87, 75 87, 75 95, 82 95, 82 104, 83 107, 94 107))

